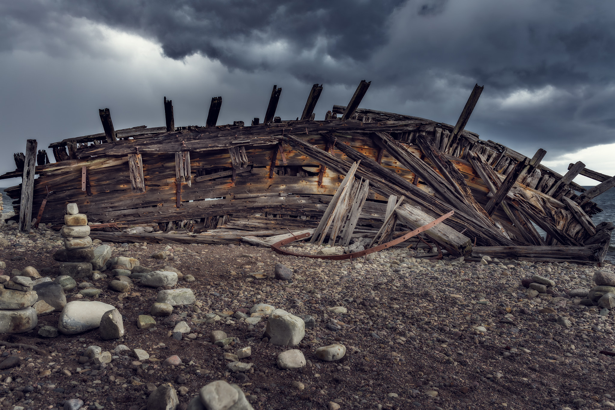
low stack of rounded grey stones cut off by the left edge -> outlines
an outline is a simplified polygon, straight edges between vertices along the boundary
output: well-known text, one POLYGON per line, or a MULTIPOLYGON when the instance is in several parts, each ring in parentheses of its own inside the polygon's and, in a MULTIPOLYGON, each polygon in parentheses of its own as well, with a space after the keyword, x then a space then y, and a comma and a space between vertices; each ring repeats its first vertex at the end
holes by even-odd
POLYGON ((26 276, 0 276, 0 333, 23 333, 38 324, 38 300, 32 279, 26 276))

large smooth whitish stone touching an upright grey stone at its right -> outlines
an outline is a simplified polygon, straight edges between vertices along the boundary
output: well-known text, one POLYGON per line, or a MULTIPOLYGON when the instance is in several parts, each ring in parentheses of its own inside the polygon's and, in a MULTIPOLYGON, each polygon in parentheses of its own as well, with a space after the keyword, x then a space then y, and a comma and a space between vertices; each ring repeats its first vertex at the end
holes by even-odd
POLYGON ((58 330, 63 334, 77 334, 100 326, 100 320, 115 307, 98 301, 68 302, 58 320, 58 330))

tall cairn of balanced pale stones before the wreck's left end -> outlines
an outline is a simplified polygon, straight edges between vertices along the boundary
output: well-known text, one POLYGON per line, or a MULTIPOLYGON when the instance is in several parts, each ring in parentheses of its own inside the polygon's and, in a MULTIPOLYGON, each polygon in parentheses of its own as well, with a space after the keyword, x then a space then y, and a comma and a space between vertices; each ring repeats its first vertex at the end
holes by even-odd
POLYGON ((54 258, 63 262, 60 264, 60 275, 68 275, 74 279, 89 278, 92 276, 92 238, 90 227, 87 225, 87 216, 79 213, 76 203, 66 205, 62 236, 64 248, 58 251, 54 258))

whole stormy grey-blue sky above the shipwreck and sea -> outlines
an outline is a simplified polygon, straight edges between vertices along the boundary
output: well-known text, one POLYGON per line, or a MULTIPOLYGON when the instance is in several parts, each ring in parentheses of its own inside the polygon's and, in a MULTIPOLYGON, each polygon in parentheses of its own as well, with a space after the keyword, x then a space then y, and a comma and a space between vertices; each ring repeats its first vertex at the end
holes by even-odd
POLYGON ((448 124, 484 85, 468 130, 614 175, 614 16, 612 0, 0 0, 0 173, 27 138, 102 132, 99 108, 157 127, 166 96, 175 125, 204 125, 221 95, 218 124, 248 124, 277 84, 294 119, 319 82, 323 119, 365 79, 363 108, 448 124))

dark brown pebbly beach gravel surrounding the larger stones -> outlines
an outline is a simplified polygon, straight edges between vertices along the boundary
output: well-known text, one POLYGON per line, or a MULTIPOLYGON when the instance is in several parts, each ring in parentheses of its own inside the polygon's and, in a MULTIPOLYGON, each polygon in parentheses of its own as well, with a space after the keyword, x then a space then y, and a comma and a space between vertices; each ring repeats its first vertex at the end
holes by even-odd
MULTIPOLYGON (((12 269, 34 266, 54 278, 59 264, 51 256, 62 248, 59 240, 54 231, 15 236, 2 225, 0 261, 6 262, 9 275, 12 269)), ((309 246, 302 251, 306 250, 315 253, 309 246)), ((176 307, 174 313, 180 317, 158 318, 162 321, 156 328, 138 329, 137 316, 149 314, 157 290, 135 284, 132 296, 120 300, 120 294, 107 288, 111 277, 90 280, 103 290, 92 300, 120 310, 126 335, 118 341, 103 341, 97 330, 52 339, 38 336, 41 326, 57 326, 57 312, 39 317, 39 325, 29 333, 2 335, 4 341, 36 345, 50 356, 28 349, 0 350, 2 357, 21 358, 20 366, 0 370, 1 408, 57 409, 69 398, 81 398, 84 408, 139 410, 145 409, 148 389, 167 381, 180 392, 183 408, 200 387, 218 379, 240 385, 255 409, 324 409, 330 401, 342 409, 615 406, 613 357, 600 353, 615 350, 613 313, 566 297, 570 290, 593 286, 593 267, 509 260, 486 266, 448 259, 429 262, 413 258, 418 256, 415 251, 405 248, 353 262, 281 256, 266 248, 232 245, 115 244, 113 256, 137 258, 147 267, 169 265, 193 275, 195 282, 180 280, 175 287, 191 288, 196 304, 176 307), (169 258, 151 258, 161 250, 169 251, 169 258), (294 270, 292 280, 274 280, 278 262, 294 270), (255 272, 266 278, 253 279, 250 274, 255 272), (521 280, 533 274, 554 280, 556 296, 564 297, 528 299, 521 280), (231 314, 263 302, 316 318, 315 328, 306 329, 306 337, 295 347, 308 359, 306 367, 277 368, 277 355, 286 348, 261 341, 264 322, 250 327, 232 316, 209 324, 203 320, 206 313, 231 314), (327 310, 334 306, 346 307, 347 314, 327 310), (543 312, 555 313, 541 313, 545 307, 550 309, 543 312), (561 327, 558 316, 573 325, 561 327), (195 340, 170 337, 178 320, 188 321, 195 340), (209 342, 213 330, 239 338, 229 352, 252 347, 252 355, 242 359, 254 363, 251 373, 237 376, 226 371, 225 350, 209 342), (317 347, 333 343, 346 345, 344 358, 315 358, 317 347), (119 344, 146 350, 150 358, 139 363, 119 352, 105 368, 79 363, 89 345, 114 354, 119 344), (170 355, 178 355, 185 365, 162 366, 170 355)), ((612 265, 602 269, 613 272, 612 265)))

